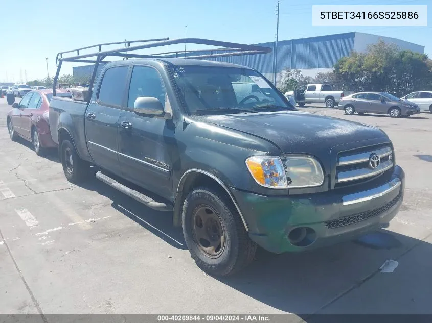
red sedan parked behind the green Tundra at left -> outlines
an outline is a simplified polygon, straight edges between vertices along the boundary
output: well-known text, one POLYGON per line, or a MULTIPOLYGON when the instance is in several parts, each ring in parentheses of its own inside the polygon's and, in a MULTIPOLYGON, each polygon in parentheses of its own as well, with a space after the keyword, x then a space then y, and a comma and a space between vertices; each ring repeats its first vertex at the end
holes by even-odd
MULTIPOLYGON (((57 96, 72 97, 66 90, 56 90, 57 96)), ((52 90, 33 90, 19 103, 13 103, 8 112, 8 130, 12 140, 20 136, 33 143, 34 151, 41 155, 44 148, 56 147, 51 138, 49 125, 50 100, 52 90)))

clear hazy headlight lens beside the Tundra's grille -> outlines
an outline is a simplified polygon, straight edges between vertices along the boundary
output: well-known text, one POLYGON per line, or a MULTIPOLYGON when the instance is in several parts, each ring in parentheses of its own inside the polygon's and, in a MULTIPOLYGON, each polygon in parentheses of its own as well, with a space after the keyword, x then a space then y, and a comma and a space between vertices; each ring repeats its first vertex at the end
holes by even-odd
POLYGON ((324 183, 320 163, 309 156, 286 156, 285 170, 288 188, 313 187, 324 183))

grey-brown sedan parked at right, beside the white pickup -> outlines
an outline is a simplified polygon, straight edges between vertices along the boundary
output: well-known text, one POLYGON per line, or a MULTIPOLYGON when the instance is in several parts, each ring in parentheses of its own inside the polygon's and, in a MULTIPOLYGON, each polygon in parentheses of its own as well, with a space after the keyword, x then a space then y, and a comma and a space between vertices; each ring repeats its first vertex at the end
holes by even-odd
POLYGON ((418 105, 383 92, 360 92, 344 97, 338 104, 345 114, 379 113, 392 118, 420 113, 418 105))

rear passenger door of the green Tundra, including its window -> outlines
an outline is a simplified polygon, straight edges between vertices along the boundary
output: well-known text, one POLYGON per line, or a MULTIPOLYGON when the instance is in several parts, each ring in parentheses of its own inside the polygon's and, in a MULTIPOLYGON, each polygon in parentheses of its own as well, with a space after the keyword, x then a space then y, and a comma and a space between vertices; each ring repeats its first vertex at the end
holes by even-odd
POLYGON ((99 82, 96 102, 90 102, 85 115, 88 150, 93 161, 115 174, 120 173, 117 128, 128 72, 129 66, 124 65, 107 69, 99 82))

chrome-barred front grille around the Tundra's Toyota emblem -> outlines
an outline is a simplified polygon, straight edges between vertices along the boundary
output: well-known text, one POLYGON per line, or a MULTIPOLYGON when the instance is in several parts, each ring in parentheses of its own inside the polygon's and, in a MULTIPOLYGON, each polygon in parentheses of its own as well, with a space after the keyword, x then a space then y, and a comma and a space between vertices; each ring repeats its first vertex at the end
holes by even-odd
POLYGON ((337 160, 335 187, 373 179, 391 168, 393 168, 393 151, 390 146, 367 147, 342 153, 337 160), (373 154, 380 157, 380 164, 375 169, 369 166, 369 159, 373 154))

